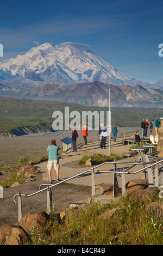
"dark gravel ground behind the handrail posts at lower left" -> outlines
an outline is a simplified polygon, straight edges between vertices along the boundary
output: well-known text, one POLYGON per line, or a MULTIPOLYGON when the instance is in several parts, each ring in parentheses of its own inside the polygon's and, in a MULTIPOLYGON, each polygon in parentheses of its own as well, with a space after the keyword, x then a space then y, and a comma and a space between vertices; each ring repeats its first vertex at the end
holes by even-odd
MULTIPOLYGON (((39 190, 40 184, 45 184, 42 173, 36 175, 36 181, 24 182, 16 187, 8 187, 3 190, 3 198, 0 198, 0 226, 14 225, 18 222, 18 205, 14 202, 14 196, 19 191, 22 194, 31 194, 39 190)), ((76 184, 60 184, 53 188, 53 204, 56 214, 64 211, 68 203, 85 200, 90 196, 91 187, 76 184)), ((16 197, 17 200, 17 197, 16 197)), ((38 193, 32 197, 22 199, 23 215, 36 212, 47 211, 47 193, 38 193)))

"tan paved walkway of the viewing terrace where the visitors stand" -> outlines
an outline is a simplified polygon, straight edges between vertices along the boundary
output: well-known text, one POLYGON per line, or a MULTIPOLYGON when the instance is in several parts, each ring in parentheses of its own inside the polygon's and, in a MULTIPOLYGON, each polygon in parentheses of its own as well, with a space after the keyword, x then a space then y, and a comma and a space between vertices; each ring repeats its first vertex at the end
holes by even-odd
MULTIPOLYGON (((116 142, 113 142, 111 140, 111 152, 114 154, 122 154, 122 153, 127 153, 129 150, 129 145, 123 145, 122 144, 122 138, 118 138, 116 142)), ((91 168, 91 166, 84 166, 84 167, 78 167, 77 162, 82 159, 82 155, 85 151, 89 151, 89 153, 99 153, 99 154, 104 154, 104 155, 109 155, 109 141, 106 142, 106 149, 101 149, 99 148, 99 141, 88 143, 87 145, 79 145, 77 149, 77 153, 68 153, 65 155, 60 155, 60 175, 59 179, 60 181, 65 180, 67 178, 70 178, 73 175, 76 175, 78 173, 82 173, 84 170, 87 170, 91 168), (71 167, 72 163, 72 167, 71 167), (76 163, 76 164, 74 164, 76 163), (67 167, 68 164, 68 167, 67 167)), ((129 157, 129 161, 135 163, 133 160, 133 157, 129 157)), ((118 160, 118 162, 128 162, 127 157, 122 160, 118 160)), ((42 162, 40 164, 36 165, 37 168, 40 169, 43 175, 43 180, 48 181, 48 172, 47 172, 47 162, 42 162)), ((117 169, 122 169, 123 167, 129 167, 131 165, 129 164, 117 164, 117 169)), ((138 170, 142 168, 142 166, 135 166, 134 168, 131 169, 132 172, 135 170, 138 170)), ((113 170, 113 164, 112 163, 107 163, 104 164, 101 167, 98 167, 98 170, 113 170)), ((131 180, 131 179, 140 179, 142 177, 142 173, 138 174, 128 174, 126 175, 126 183, 131 180)), ((53 184, 56 181, 56 173, 54 169, 52 169, 52 181, 53 184)), ((66 181, 69 184, 79 184, 79 185, 87 185, 91 186, 91 172, 85 173, 83 175, 80 175, 79 177, 73 178, 71 180, 66 181)), ((96 173, 96 178, 95 178, 95 185, 98 184, 112 184, 113 182, 113 174, 109 173, 96 173)), ((122 178, 118 177, 118 184, 121 186, 122 183, 122 178)))

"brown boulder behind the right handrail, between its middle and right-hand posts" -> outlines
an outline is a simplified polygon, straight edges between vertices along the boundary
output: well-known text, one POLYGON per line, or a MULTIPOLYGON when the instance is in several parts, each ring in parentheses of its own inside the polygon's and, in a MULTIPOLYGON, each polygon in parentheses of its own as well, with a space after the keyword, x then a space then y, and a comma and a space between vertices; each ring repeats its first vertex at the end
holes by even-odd
POLYGON ((135 190, 144 190, 147 187, 148 187, 148 179, 130 180, 126 184, 126 192, 135 191, 135 190))

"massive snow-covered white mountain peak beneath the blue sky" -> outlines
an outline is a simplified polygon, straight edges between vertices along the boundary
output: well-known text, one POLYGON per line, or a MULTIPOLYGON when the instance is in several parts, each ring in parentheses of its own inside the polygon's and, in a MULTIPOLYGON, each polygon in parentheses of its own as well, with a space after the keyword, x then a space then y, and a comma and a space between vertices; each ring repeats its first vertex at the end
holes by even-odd
POLYGON ((0 62, 0 80, 28 75, 51 77, 59 83, 101 81, 104 83, 137 84, 133 77, 122 74, 85 45, 64 42, 33 47, 23 55, 0 62))

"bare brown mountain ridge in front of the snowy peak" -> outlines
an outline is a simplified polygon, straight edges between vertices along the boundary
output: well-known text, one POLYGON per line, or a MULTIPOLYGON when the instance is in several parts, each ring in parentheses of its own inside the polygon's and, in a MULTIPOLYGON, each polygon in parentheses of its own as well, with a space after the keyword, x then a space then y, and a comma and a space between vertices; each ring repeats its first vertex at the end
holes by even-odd
POLYGON ((131 86, 112 86, 99 81, 71 85, 44 84, 36 86, 22 96, 31 99, 59 100, 86 106, 109 106, 109 87, 111 106, 114 107, 162 107, 163 91, 143 88, 140 84, 131 86))

